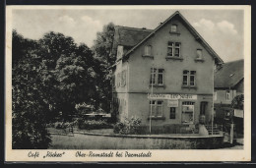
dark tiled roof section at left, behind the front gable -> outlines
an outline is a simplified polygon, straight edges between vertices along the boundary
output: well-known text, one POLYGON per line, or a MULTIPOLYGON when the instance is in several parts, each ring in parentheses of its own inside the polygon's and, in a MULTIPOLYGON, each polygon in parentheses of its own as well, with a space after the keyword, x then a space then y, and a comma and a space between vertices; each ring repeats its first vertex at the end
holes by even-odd
POLYGON ((122 45, 126 49, 131 49, 146 36, 148 36, 151 31, 152 29, 147 28, 129 28, 115 26, 112 54, 116 54, 116 49, 118 45, 122 45))

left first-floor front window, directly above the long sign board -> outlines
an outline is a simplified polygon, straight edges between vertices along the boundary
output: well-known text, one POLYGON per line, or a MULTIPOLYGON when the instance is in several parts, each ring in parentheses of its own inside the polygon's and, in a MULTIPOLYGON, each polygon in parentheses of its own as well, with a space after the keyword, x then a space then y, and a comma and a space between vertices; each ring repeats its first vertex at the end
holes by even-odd
POLYGON ((150 84, 163 85, 163 69, 151 69, 150 84))

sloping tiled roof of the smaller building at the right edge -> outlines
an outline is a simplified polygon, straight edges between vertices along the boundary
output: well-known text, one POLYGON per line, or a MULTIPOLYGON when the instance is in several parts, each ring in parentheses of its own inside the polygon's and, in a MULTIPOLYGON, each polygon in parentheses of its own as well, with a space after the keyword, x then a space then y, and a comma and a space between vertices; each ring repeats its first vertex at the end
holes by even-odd
POLYGON ((244 78, 244 60, 227 62, 215 74, 215 88, 231 88, 244 78))

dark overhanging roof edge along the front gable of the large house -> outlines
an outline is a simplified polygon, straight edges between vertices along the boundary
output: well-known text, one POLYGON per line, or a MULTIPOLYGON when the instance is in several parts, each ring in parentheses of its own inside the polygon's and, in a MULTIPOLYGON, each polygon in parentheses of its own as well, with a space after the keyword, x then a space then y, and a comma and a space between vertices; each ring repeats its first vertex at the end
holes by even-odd
MULTIPOLYGON (((128 59, 130 54, 138 48, 141 44, 143 44, 147 39, 149 39, 152 35, 154 35, 160 28, 164 27, 166 23, 168 23, 172 18, 174 17, 180 17, 183 24, 190 30, 190 32, 195 36, 195 38, 200 41, 204 47, 208 50, 208 52, 214 57, 215 61, 218 64, 223 64, 224 61, 221 59, 221 57, 213 50, 213 48, 204 40, 204 38, 196 31, 195 28, 193 28, 188 21, 178 12, 176 11, 174 14, 172 14, 168 19, 166 19, 158 28, 155 28, 154 30, 149 33, 144 39, 142 39, 139 43, 137 43, 134 47, 132 47, 121 59, 128 59)), ((117 60, 118 61, 118 60, 117 60)))

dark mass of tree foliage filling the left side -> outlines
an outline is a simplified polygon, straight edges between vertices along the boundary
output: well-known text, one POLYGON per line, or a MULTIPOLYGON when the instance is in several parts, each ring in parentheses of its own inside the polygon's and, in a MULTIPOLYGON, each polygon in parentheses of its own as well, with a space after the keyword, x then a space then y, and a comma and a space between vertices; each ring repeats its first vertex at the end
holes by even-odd
MULTIPOLYGON (((91 50, 86 44, 58 32, 47 32, 39 40, 13 31, 13 147, 47 148, 46 124, 62 112, 61 121, 72 121, 76 104, 110 111, 111 86, 108 66, 112 64, 114 27, 97 33, 91 50)), ((105 127, 105 123, 86 123, 105 127)))

